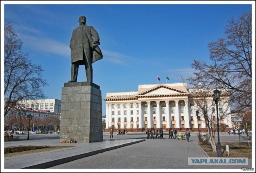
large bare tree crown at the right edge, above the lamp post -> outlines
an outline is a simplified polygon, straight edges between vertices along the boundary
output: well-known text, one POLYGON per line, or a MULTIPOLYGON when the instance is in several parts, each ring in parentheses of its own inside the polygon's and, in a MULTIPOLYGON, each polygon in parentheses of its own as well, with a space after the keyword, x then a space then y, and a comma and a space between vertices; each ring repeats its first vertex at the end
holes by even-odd
POLYGON ((232 108, 252 108, 252 11, 231 18, 226 37, 208 44, 211 64, 194 59, 196 70, 188 81, 206 88, 228 88, 232 108))

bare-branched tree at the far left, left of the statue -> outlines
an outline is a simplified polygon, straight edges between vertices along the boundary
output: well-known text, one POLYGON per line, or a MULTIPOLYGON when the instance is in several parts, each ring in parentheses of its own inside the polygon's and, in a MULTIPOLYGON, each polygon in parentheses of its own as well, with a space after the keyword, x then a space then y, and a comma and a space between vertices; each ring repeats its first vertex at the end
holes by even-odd
POLYGON ((41 65, 32 64, 21 51, 22 41, 11 23, 4 24, 4 116, 20 100, 44 99, 41 65))

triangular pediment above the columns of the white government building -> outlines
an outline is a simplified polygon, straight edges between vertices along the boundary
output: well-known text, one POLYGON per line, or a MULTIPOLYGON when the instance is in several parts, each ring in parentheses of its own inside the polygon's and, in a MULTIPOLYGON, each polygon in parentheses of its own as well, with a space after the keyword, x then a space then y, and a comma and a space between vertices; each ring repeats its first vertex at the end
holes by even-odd
POLYGON ((142 96, 142 95, 166 95, 166 94, 189 94, 188 91, 186 90, 181 90, 172 86, 167 86, 164 84, 159 84, 156 85, 152 88, 149 88, 147 90, 144 90, 138 94, 136 94, 136 96, 142 96))

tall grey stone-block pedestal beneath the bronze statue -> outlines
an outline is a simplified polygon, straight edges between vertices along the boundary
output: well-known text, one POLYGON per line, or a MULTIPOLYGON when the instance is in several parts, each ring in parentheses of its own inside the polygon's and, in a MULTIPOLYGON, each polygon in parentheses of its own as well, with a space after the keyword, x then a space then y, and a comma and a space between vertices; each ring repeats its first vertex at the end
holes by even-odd
POLYGON ((64 83, 61 98, 60 141, 101 142, 100 86, 91 82, 64 83))

